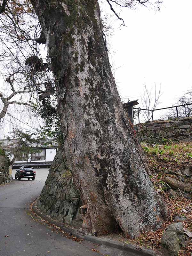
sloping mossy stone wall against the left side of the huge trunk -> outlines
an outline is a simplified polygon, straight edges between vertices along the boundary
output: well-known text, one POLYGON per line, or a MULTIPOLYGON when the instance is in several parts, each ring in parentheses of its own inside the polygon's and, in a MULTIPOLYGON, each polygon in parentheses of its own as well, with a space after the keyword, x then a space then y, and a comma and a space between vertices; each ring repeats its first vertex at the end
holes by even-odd
POLYGON ((53 219, 71 224, 82 224, 81 199, 71 172, 66 166, 64 148, 59 148, 49 170, 44 188, 37 202, 38 209, 53 219), (73 223, 72 223, 73 224, 73 223))

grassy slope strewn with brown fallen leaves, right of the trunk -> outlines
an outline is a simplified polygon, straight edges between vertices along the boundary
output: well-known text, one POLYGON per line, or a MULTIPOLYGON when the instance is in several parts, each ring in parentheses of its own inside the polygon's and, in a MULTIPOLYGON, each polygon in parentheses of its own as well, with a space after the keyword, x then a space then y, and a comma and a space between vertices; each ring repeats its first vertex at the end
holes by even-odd
MULTIPOLYGON (((169 215, 167 221, 160 229, 155 232, 142 234, 140 237, 128 242, 146 246, 148 248, 160 249, 161 237, 164 230, 173 223, 176 215, 179 214, 186 217, 186 220, 182 221, 183 227, 192 231, 192 200, 190 193, 188 195, 181 194, 180 196, 177 196, 177 198, 171 198, 166 194, 166 190, 169 188, 167 188, 168 185, 164 182, 164 178, 167 176, 175 179, 180 179, 180 177, 182 177, 186 182, 191 182, 191 180, 183 175, 182 172, 186 166, 192 165, 192 143, 172 143, 155 146, 143 144, 142 148, 146 152, 151 166, 152 173, 150 178, 154 183, 154 186, 161 189, 161 194, 164 196, 164 200, 168 206, 169 215), (186 198, 186 196, 190 198, 186 198), (187 212, 184 212, 183 209, 187 212)), ((186 240, 190 241, 190 238, 186 237, 186 240)), ((180 250, 179 256, 191 255, 192 243, 183 246, 180 250)))

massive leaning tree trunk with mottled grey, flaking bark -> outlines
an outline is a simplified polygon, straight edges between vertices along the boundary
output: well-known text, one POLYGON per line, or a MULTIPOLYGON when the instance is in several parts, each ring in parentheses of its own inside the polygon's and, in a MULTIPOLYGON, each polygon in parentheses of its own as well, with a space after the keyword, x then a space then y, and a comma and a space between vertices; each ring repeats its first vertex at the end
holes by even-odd
POLYGON ((31 2, 55 75, 68 168, 87 205, 84 228, 139 236, 165 207, 116 89, 98 1, 31 2))

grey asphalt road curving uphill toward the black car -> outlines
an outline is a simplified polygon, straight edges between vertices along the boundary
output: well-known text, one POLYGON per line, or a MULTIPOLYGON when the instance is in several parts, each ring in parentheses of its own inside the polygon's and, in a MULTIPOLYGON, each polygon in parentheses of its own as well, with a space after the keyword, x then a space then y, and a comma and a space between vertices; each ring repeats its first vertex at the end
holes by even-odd
MULTIPOLYGON (((14 180, 0 186, 0 256, 98 256, 89 242, 74 242, 34 221, 26 209, 43 188, 44 181, 14 180)), ((108 256, 127 253, 100 246, 108 256)))

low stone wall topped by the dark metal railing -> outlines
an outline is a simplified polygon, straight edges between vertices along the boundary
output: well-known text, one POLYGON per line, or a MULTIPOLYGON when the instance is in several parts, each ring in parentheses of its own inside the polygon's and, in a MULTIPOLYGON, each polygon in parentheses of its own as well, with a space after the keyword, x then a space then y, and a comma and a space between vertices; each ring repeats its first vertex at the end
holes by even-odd
POLYGON ((154 120, 134 125, 139 141, 192 141, 192 117, 154 120))

